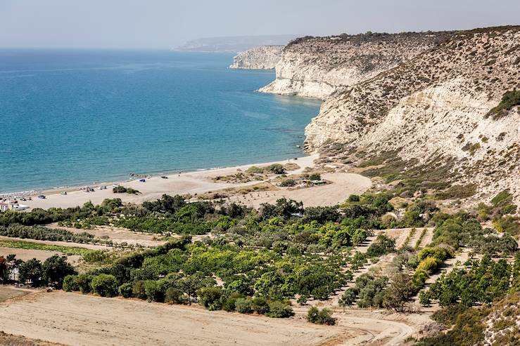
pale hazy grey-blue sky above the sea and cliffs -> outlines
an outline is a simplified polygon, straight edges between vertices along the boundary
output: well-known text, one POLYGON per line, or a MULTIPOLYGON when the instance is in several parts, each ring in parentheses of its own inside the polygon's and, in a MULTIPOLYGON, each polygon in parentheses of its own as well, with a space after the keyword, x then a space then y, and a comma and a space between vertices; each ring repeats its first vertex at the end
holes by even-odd
POLYGON ((0 0, 0 47, 170 48, 186 39, 520 24, 520 0, 0 0))

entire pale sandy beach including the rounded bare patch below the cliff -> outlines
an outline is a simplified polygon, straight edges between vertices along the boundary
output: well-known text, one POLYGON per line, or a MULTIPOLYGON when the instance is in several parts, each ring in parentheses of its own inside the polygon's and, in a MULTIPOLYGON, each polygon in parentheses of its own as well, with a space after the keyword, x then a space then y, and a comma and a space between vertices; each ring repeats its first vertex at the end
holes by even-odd
MULTIPOLYGON (((307 157, 300 157, 297 160, 291 159, 290 162, 298 164, 300 168, 289 171, 288 175, 296 175, 302 173, 305 168, 314 168, 314 161, 318 154, 313 154, 307 157)), ((67 194, 60 194, 62 190, 49 190, 43 192, 46 199, 38 199, 32 197, 32 201, 22 201, 21 203, 30 206, 31 208, 52 208, 61 207, 68 208, 74 206, 81 206, 87 201, 93 204, 101 204, 104 199, 120 198, 124 202, 142 203, 159 199, 163 194, 203 194, 205 192, 216 192, 229 187, 244 187, 248 185, 258 184, 254 182, 215 182, 213 178, 219 175, 229 175, 237 171, 246 171, 251 166, 269 166, 270 164, 287 164, 289 161, 274 161, 264 164, 248 164, 244 166, 234 166, 228 168, 210 169, 205 171, 194 171, 180 174, 166 175, 167 179, 160 176, 152 176, 146 178, 146 182, 139 182, 139 178, 129 180, 126 182, 117 182, 116 184, 125 187, 132 187, 139 190, 140 194, 115 194, 112 192, 113 183, 100 183, 98 185, 91 185, 94 192, 84 192, 80 187, 68 189, 67 194), (98 186, 106 186, 106 189, 96 189, 98 186)), ((234 201, 241 201, 244 204, 251 206, 259 206, 264 202, 274 202, 281 197, 296 199, 303 201, 305 206, 315 205, 332 205, 344 201, 350 194, 358 194, 368 189, 372 182, 369 178, 353 173, 326 173, 324 175, 326 180, 331 184, 305 189, 280 189, 269 192, 255 192, 249 195, 239 195, 231 197, 234 201)))

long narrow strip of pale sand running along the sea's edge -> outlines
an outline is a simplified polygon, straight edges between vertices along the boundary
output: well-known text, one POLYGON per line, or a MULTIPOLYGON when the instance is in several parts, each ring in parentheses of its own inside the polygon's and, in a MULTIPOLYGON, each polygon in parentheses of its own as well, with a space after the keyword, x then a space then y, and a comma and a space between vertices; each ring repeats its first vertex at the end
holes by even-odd
MULTIPOLYGON (((295 171, 290 171, 290 174, 298 174, 305 170, 307 167, 314 167, 314 161, 318 155, 310 155, 307 157, 300 157, 297 161, 291 160, 300 166, 295 171)), ((97 183, 91 184, 91 187, 100 185, 106 185, 107 189, 98 190, 94 192, 79 191, 79 187, 68 189, 68 194, 60 194, 63 189, 50 190, 44 192, 46 199, 33 198, 32 201, 23 201, 23 204, 30 206, 31 208, 51 208, 61 207, 68 208, 73 206, 81 206, 87 201, 91 201, 93 204, 101 204, 103 199, 107 198, 120 198, 125 202, 142 203, 153 199, 160 198, 163 194, 201 194, 209 191, 216 191, 225 189, 228 187, 240 187, 253 185, 258 183, 246 182, 243 184, 233 184, 229 182, 214 182, 211 178, 217 175, 229 175, 236 173, 238 169, 245 171, 251 166, 269 166, 270 164, 286 164, 288 161, 275 161, 268 162, 265 164, 248 164, 244 166, 234 166, 229 168, 219 168, 205 171, 194 171, 179 174, 167 175, 168 179, 160 178, 160 176, 154 176, 146 178, 146 182, 139 182, 139 179, 129 180, 126 182, 120 182, 120 185, 125 187, 132 187, 141 192, 141 194, 114 194, 112 192, 112 183, 97 183)), ((65 189, 67 190, 67 189, 65 189)))

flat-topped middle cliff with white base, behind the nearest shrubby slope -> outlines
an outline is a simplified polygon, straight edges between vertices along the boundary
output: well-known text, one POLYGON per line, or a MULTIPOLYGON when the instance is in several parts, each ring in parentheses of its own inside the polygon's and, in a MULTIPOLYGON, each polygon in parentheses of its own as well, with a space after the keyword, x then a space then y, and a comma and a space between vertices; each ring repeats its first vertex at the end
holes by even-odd
POLYGON ((325 99, 434 48, 451 33, 360 34, 291 41, 264 93, 325 99))

